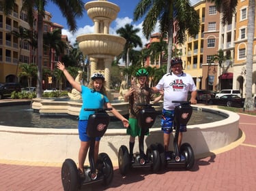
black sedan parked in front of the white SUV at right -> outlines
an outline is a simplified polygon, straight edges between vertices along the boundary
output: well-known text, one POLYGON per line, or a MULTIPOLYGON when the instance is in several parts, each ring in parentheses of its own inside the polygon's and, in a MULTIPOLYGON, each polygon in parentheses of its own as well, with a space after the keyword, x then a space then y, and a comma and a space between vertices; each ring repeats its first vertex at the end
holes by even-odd
POLYGON ((227 94, 222 97, 215 97, 208 101, 211 105, 225 105, 227 107, 244 107, 244 98, 236 94, 227 94))

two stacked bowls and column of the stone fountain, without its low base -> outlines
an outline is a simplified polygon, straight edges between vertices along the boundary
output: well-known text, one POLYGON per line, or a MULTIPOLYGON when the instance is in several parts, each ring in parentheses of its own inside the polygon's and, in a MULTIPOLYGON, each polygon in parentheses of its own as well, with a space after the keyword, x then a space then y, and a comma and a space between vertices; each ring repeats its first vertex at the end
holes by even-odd
POLYGON ((76 40, 83 54, 89 57, 90 73, 104 71, 107 96, 111 99, 111 63, 126 44, 123 37, 109 34, 109 26, 120 9, 114 3, 98 0, 85 3, 85 10, 94 22, 94 33, 79 35, 76 40))

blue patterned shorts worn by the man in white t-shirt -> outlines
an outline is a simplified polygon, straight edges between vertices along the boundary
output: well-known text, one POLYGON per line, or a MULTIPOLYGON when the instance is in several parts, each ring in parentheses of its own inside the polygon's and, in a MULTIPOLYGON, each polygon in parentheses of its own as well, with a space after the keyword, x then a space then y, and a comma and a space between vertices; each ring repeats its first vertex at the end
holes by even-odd
MULTIPOLYGON (((161 118, 162 131, 166 134, 173 132, 174 124, 174 110, 162 109, 162 118, 161 118)), ((180 132, 186 132, 186 125, 180 124, 180 132)))

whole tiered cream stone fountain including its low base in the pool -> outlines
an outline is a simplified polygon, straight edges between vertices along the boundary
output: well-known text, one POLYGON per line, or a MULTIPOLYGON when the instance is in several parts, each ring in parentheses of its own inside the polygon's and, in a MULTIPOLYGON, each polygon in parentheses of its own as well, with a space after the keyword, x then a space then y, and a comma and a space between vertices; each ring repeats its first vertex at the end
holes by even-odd
MULTIPOLYGON (((85 3, 85 10, 91 20, 94 22, 94 33, 83 34, 76 37, 79 42, 79 48, 84 55, 87 55, 90 61, 91 70, 90 73, 100 72, 104 73, 106 81, 107 97, 110 101, 113 101, 113 95, 111 94, 110 82, 111 82, 111 63, 115 56, 121 54, 126 44, 126 39, 117 35, 109 34, 109 26, 113 20, 117 17, 119 12, 119 6, 110 3, 108 1, 89 1, 85 3)), ((81 73, 76 77, 76 81, 81 79, 81 73)), ((90 75, 90 74, 89 74, 90 75)), ((74 89, 69 97, 72 101, 56 101, 55 99, 33 99, 32 109, 38 110, 42 115, 58 115, 69 114, 73 116, 79 116, 81 109, 81 101, 77 101, 81 98, 74 89), (76 101, 74 101, 76 100, 76 101)), ((112 103, 113 107, 119 111, 122 115, 128 114, 128 103, 112 103)), ((160 107, 159 107, 160 109, 160 107)), ((113 116, 109 112, 110 116, 113 116)))

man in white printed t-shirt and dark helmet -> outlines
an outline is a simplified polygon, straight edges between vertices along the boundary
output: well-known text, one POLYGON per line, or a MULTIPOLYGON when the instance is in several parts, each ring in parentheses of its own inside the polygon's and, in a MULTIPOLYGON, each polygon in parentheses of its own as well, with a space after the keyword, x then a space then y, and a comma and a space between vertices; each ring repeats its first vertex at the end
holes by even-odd
MULTIPOLYGON (((184 73, 182 70, 182 60, 180 58, 172 59, 170 73, 163 75, 158 84, 152 88, 154 92, 159 92, 160 90, 165 91, 161 126, 164 132, 164 147, 167 160, 171 160, 169 143, 170 134, 173 131, 174 108, 176 105, 179 105, 179 103, 172 103, 172 101, 187 101, 188 92, 191 92, 190 103, 197 103, 197 87, 195 86, 195 82, 191 75, 184 73)), ((182 132, 186 132, 186 125, 180 126, 177 141, 179 147, 182 143, 182 132)), ((184 156, 181 156, 181 160, 185 160, 184 156)))

